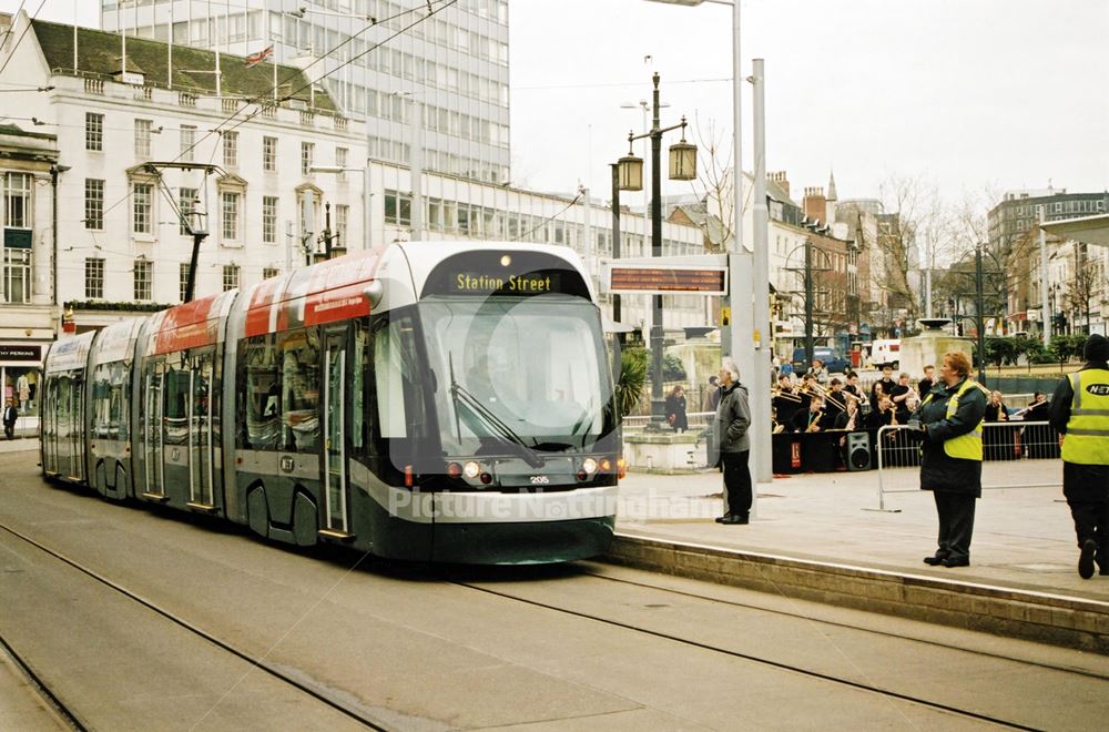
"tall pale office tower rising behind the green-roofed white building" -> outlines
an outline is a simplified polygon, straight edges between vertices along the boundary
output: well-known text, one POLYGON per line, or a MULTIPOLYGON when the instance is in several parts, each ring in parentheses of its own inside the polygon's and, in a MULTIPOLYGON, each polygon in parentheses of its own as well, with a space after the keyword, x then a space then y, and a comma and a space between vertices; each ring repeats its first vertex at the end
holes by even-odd
POLYGON ((425 167, 511 180, 508 0, 102 0, 101 28, 242 57, 273 45, 369 121, 370 156, 407 164, 423 108, 425 167))

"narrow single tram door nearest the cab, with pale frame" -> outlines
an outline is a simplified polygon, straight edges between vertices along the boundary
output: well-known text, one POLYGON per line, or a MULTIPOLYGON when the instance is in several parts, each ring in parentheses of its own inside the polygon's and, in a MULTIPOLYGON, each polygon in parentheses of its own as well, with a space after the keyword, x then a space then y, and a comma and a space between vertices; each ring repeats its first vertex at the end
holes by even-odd
POLYGON ((327 529, 348 533, 346 492, 346 332, 327 335, 324 374, 324 480, 327 529))

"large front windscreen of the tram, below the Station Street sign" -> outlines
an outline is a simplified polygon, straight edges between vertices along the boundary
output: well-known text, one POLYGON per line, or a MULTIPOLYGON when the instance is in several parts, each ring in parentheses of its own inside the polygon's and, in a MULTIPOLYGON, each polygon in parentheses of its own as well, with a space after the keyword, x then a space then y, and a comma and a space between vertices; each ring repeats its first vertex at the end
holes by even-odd
POLYGON ((611 426, 597 307, 568 295, 419 305, 448 455, 589 449, 611 426), (507 448, 507 449, 506 449, 507 448))

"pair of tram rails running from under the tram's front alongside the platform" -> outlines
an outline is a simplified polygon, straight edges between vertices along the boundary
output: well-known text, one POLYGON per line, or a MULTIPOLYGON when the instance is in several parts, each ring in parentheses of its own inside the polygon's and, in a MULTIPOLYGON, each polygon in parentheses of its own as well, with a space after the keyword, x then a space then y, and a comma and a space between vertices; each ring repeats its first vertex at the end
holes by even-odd
MULTIPOLYGON (((582 576, 588 576, 588 577, 593 577, 593 578, 597 578, 597 579, 600 579, 600 580, 613 581, 613 582, 619 582, 619 583, 623 583, 623 584, 637 586, 637 587, 640 587, 642 589, 648 589, 648 590, 652 590, 652 591, 657 591, 657 592, 676 594, 676 596, 681 596, 683 598, 695 599, 695 600, 699 600, 699 601, 702 601, 702 602, 721 602, 721 603, 724 603, 724 604, 728 604, 728 606, 733 606, 733 607, 736 607, 736 608, 740 608, 740 609, 744 609, 744 610, 752 610, 752 611, 760 611, 760 612, 773 612, 774 614, 787 616, 787 617, 794 618, 796 620, 803 620, 803 621, 808 621, 808 622, 818 623, 818 624, 835 626, 835 627, 840 627, 840 628, 849 629, 852 631, 872 632, 867 628, 861 628, 858 626, 851 624, 851 623, 842 623, 842 622, 841 623, 834 623, 834 622, 830 623, 830 622, 826 622, 825 620, 813 619, 813 618, 810 618, 810 617, 801 614, 801 613, 787 613, 787 612, 783 612, 783 611, 766 610, 765 608, 760 607, 760 606, 755 606, 755 604, 745 604, 745 603, 731 602, 731 601, 728 601, 728 600, 720 600, 720 599, 716 599, 716 598, 705 598, 703 596, 696 596, 696 594, 691 593, 691 592, 684 592, 684 591, 681 591, 681 590, 674 590, 672 588, 665 588, 665 587, 661 587, 661 586, 657 586, 657 584, 650 584, 650 583, 644 583, 644 582, 627 581, 627 580, 622 580, 620 578, 606 577, 603 575, 598 575, 598 573, 590 572, 590 571, 583 571, 583 572, 581 572, 581 575, 582 576)), ((822 672, 822 671, 818 671, 818 670, 814 670, 812 668, 805 668, 802 664, 791 663, 791 662, 786 662, 786 661, 779 661, 779 660, 775 660, 773 658, 767 658, 766 655, 762 655, 762 654, 750 653, 750 652, 744 652, 744 651, 734 650, 734 649, 728 649, 728 648, 721 648, 718 644, 699 641, 699 640, 695 640, 695 639, 692 639, 692 638, 683 637, 682 634, 667 632, 667 631, 658 630, 658 629, 654 629, 654 628, 648 628, 648 627, 644 627, 642 624, 637 624, 634 622, 627 622, 627 621, 623 621, 623 620, 614 619, 612 617, 604 617, 604 616, 599 614, 599 613, 576 610, 576 609, 568 608, 568 607, 560 607, 559 604, 554 604, 554 603, 551 603, 551 602, 545 602, 545 601, 539 601, 539 600, 535 600, 535 599, 521 597, 521 596, 515 594, 512 592, 492 589, 492 588, 490 588, 490 587, 488 587, 486 584, 481 584, 481 583, 478 583, 478 582, 459 581, 459 580, 454 580, 454 579, 445 579, 444 581, 446 581, 449 584, 456 586, 456 587, 461 587, 461 588, 465 588, 465 589, 468 589, 468 590, 471 590, 471 591, 481 592, 484 594, 497 597, 497 598, 500 598, 500 599, 503 599, 503 600, 509 600, 509 601, 513 601, 513 602, 520 602, 520 603, 523 603, 523 604, 527 604, 527 606, 530 606, 530 607, 533 607, 533 608, 541 608, 543 610, 549 610, 549 611, 562 613, 562 614, 566 614, 566 616, 571 616, 571 617, 574 617, 574 618, 580 618, 582 620, 588 620, 588 621, 591 621, 591 622, 601 623, 601 624, 604 624, 604 626, 608 626, 608 627, 611 627, 611 628, 619 628, 621 630, 631 631, 631 632, 634 632, 634 633, 641 633, 643 636, 648 636, 648 637, 651 637, 651 638, 657 638, 657 639, 662 639, 662 640, 671 641, 671 642, 674 642, 674 643, 679 643, 679 644, 681 644, 681 645, 683 645, 685 648, 692 648, 692 649, 699 649, 699 650, 703 650, 703 651, 709 651, 711 653, 721 654, 721 655, 724 655, 724 657, 728 657, 728 658, 733 658, 733 659, 736 659, 736 660, 740 660, 740 661, 746 661, 746 662, 755 663, 755 664, 759 664, 759 665, 764 667, 764 668, 775 669, 775 670, 779 670, 779 671, 785 671, 785 672, 790 672, 790 673, 800 674, 800 675, 808 678, 808 679, 827 682, 827 683, 831 683, 831 684, 834 684, 834 685, 837 685, 837 687, 841 687, 841 688, 848 688, 848 689, 854 689, 854 690, 857 690, 857 691, 868 692, 868 693, 872 693, 872 694, 876 694, 876 695, 878 695, 881 698, 888 699, 891 701, 895 701, 896 700, 896 701, 901 701, 901 702, 908 702, 908 703, 912 703, 912 704, 917 704, 917 705, 920 705, 920 706, 924 706, 924 708, 927 708, 927 709, 930 709, 930 710, 934 710, 934 711, 946 712, 948 714, 954 714, 954 715, 957 715, 957 716, 959 716, 962 719, 966 719, 966 720, 974 720, 974 721, 977 721, 977 722, 985 722, 985 723, 988 723, 988 724, 995 724, 995 725, 998 725, 998 726, 1003 726, 1003 728, 1006 728, 1006 729, 1014 729, 1014 730, 1039 730, 1039 729, 1041 729, 1039 726, 1034 726, 1034 725, 1025 724, 1025 723, 1021 723, 1021 722, 1018 722, 1018 721, 1015 721, 1015 720, 1003 719, 1001 716, 998 716, 998 715, 995 715, 995 714, 976 712, 976 711, 973 711, 973 710, 963 709, 963 708, 959 708, 957 705, 944 703, 943 701, 937 701, 935 699, 928 699, 928 698, 926 698, 924 695, 920 695, 920 694, 906 693, 906 692, 903 692, 903 691, 897 691, 897 690, 894 690, 894 689, 888 689, 888 688, 885 688, 885 687, 883 687, 881 684, 877 684, 877 683, 871 683, 871 682, 867 682, 867 681, 857 681, 857 680, 853 680, 853 679, 848 679, 848 678, 844 678, 844 677, 838 677, 838 675, 835 675, 835 674, 832 674, 832 673, 826 673, 826 672, 822 672)), ((874 631, 874 632, 876 632, 877 634, 881 634, 881 636, 886 636, 888 638, 897 638, 899 640, 905 640, 904 637, 895 636, 893 633, 886 633, 886 632, 882 632, 882 631, 874 631)), ((953 651, 958 651, 958 652, 962 652, 962 653, 971 653, 974 655, 980 655, 980 657, 984 657, 984 658, 997 659, 997 660, 1000 660, 1000 661, 1008 661, 1008 662, 1015 662, 1015 663, 1026 663, 1026 661, 1024 661, 1024 660, 1016 660, 1016 659, 1011 659, 1010 657, 1006 657, 1006 655, 1001 655, 1001 654, 981 653, 981 652, 978 652, 978 651, 969 651, 969 650, 964 649, 964 648, 959 648, 959 647, 955 647, 955 645, 950 645, 950 644, 944 644, 944 643, 934 643, 934 642, 927 641, 927 640, 917 640, 917 639, 909 639, 909 640, 913 640, 914 642, 919 642, 919 643, 925 643, 925 644, 934 645, 936 648, 942 648, 942 649, 945 649, 945 650, 953 650, 953 651)), ((1060 673, 1075 673, 1075 674, 1078 674, 1078 675, 1085 675, 1085 677, 1089 677, 1089 678, 1093 678, 1093 679, 1099 679, 1099 680, 1106 679, 1106 677, 1103 674, 1098 674, 1098 673, 1088 672, 1088 671, 1083 671, 1083 670, 1076 670, 1076 669, 1071 669, 1071 668, 1064 668, 1064 667, 1057 667, 1057 665, 1050 665, 1050 664, 1035 664, 1035 663, 1032 663, 1031 665, 1039 665, 1040 668, 1044 668, 1045 670, 1056 671, 1056 672, 1060 672, 1060 673)))

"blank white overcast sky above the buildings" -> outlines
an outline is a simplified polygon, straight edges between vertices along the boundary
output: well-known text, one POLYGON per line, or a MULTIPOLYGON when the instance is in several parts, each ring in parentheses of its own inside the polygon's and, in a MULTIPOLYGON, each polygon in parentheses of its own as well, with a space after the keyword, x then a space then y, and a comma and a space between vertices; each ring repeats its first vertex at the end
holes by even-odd
MULTIPOLYGON (((403 0, 405 4, 410 0, 403 0)), ((26 0, 29 11, 40 0, 26 0)), ((213 3, 215 4, 215 2, 213 3)), ((0 0, 14 10, 19 0, 0 0)), ((40 17, 99 22, 95 0, 40 17)), ((767 170, 876 197, 891 176, 962 191, 1109 187, 1106 0, 744 0, 743 72, 766 63, 767 170)), ((512 183, 606 197, 662 77, 663 124, 732 133, 732 9, 511 0, 512 183), (645 57, 650 57, 644 61, 645 57)), ((744 167, 751 91, 744 83, 744 167)), ((664 146, 678 141, 675 133, 664 146)), ((694 140, 695 141, 695 140, 694 140)), ((730 149, 730 146, 729 146, 730 149)), ((641 148, 637 148, 640 151, 641 148)), ((668 183, 668 192, 689 184, 668 183)), ((634 203, 634 201, 633 201, 634 203)))

